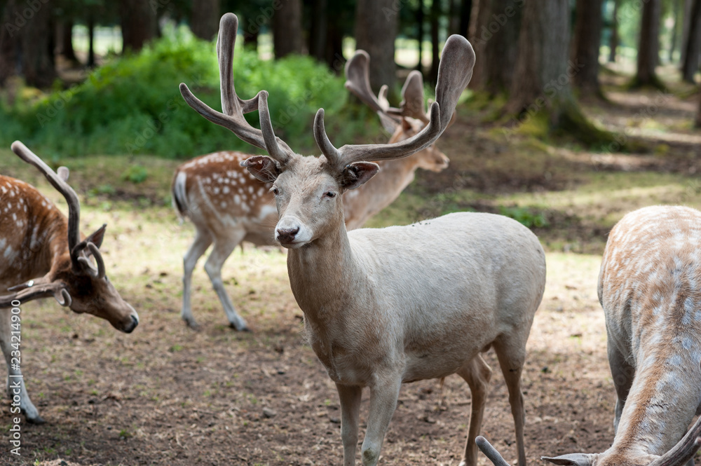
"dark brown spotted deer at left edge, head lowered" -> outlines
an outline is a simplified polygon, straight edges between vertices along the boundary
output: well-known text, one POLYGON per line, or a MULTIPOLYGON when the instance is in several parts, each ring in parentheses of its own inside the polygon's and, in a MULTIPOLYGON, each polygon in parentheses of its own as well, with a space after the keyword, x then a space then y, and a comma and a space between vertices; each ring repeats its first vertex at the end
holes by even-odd
POLYGON ((136 328, 139 317, 107 279, 99 249, 105 226, 81 238, 80 204, 66 183, 67 168, 56 174, 21 142, 14 142, 12 150, 38 168, 68 203, 66 218, 33 186, 0 175, 0 346, 8 366, 8 395, 19 397, 13 409, 19 408, 28 422, 43 423, 18 369, 17 346, 24 342, 11 310, 53 296, 61 306, 101 317, 126 333, 136 328))

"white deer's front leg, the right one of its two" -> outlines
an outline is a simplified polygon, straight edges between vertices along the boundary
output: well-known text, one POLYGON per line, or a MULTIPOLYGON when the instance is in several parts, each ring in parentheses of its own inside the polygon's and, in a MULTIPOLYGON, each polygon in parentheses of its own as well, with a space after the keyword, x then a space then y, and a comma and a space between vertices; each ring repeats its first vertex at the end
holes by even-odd
POLYGON ((380 458, 382 441, 397 408, 401 386, 402 378, 397 376, 381 380, 370 387, 370 412, 367 416, 365 440, 362 441, 360 450, 362 466, 375 466, 380 458))

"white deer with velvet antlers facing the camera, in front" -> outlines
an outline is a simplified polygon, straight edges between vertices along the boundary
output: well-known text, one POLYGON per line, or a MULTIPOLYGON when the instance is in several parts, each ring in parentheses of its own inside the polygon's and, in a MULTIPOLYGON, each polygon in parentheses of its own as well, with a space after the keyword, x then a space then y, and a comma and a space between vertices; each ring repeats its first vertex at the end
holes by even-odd
POLYGON ((475 466, 474 438, 491 373, 480 352, 490 347, 508 385, 519 459, 525 465, 521 372, 545 286, 545 255, 538 238, 517 221, 493 214, 449 214, 410 226, 351 232, 343 221, 343 192, 379 170, 367 160, 409 156, 441 135, 470 81, 472 46, 461 36, 447 40, 436 102, 426 128, 414 137, 336 149, 320 109, 314 135, 323 155, 300 156, 275 137, 265 90, 251 100, 236 95, 231 65, 237 27, 231 13, 219 25, 224 113, 207 107, 186 85, 180 91, 202 116, 269 154, 248 158, 243 165, 273 184, 279 215, 275 239, 289 249, 290 286, 304 312, 308 341, 339 392, 343 465, 355 464, 363 387, 370 390, 370 408, 362 464, 373 466, 402 383, 458 374, 472 390, 461 464, 475 466), (244 118, 255 109, 261 130, 244 118))

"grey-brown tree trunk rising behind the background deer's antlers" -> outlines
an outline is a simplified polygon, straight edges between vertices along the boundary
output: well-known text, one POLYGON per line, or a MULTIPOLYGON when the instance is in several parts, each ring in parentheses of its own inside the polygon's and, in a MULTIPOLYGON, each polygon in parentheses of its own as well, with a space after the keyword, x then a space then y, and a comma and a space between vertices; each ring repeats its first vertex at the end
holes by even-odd
POLYGON ((358 0, 355 6, 355 46, 370 55, 370 86, 375 93, 386 84, 395 94, 399 5, 395 0, 358 0))

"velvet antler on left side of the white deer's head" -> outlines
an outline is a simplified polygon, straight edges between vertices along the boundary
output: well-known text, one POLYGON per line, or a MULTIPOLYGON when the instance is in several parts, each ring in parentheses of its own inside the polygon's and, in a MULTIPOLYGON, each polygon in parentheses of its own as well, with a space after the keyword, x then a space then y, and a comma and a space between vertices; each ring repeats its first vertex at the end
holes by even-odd
MULTIPOLYGON (((268 137, 265 132, 273 132, 273 127, 268 116, 267 122, 261 121, 264 131, 258 130, 248 124, 244 114, 251 111, 260 110, 261 92, 249 100, 242 100, 236 95, 233 85, 233 51, 236 46, 236 31, 238 29, 238 18, 233 13, 226 13, 219 21, 219 36, 217 37, 217 57, 219 60, 219 84, 222 94, 222 110, 224 113, 216 111, 197 97, 189 90, 184 83, 180 84, 180 93, 185 102, 207 120, 230 130, 242 141, 259 147, 278 160, 283 165, 290 160, 292 149, 279 138, 268 137)), ((265 111, 267 112, 267 104, 265 111)), ((274 135, 273 135, 274 136, 274 135)))

